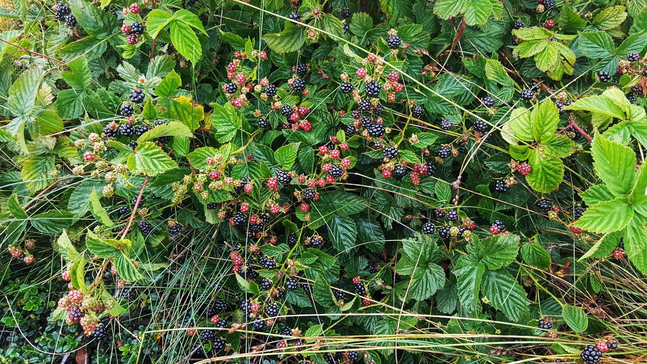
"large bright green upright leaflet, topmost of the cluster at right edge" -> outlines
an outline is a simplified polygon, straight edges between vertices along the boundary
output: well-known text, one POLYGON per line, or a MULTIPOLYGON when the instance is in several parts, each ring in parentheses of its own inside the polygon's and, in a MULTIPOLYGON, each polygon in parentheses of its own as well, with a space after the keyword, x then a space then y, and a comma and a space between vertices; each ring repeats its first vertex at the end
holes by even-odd
POLYGON ((631 148, 595 135, 593 139, 595 172, 615 196, 625 196, 633 188, 636 157, 631 148))

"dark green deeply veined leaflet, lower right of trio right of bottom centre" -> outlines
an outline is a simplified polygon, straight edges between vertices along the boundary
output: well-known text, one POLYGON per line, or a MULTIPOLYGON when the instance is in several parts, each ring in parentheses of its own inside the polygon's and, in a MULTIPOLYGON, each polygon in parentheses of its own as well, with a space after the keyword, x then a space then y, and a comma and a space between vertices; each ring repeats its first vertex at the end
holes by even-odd
POLYGON ((516 323, 530 319, 529 302, 521 285, 505 270, 483 273, 483 297, 516 323))

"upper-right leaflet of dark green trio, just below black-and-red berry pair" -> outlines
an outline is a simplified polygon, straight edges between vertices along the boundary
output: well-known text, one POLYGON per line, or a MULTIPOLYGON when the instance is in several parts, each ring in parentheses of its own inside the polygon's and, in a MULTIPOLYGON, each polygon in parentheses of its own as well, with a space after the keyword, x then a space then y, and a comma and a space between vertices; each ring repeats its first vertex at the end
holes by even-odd
POLYGON ((514 234, 494 235, 481 240, 476 247, 479 260, 487 269, 508 266, 519 251, 519 236, 514 234))

